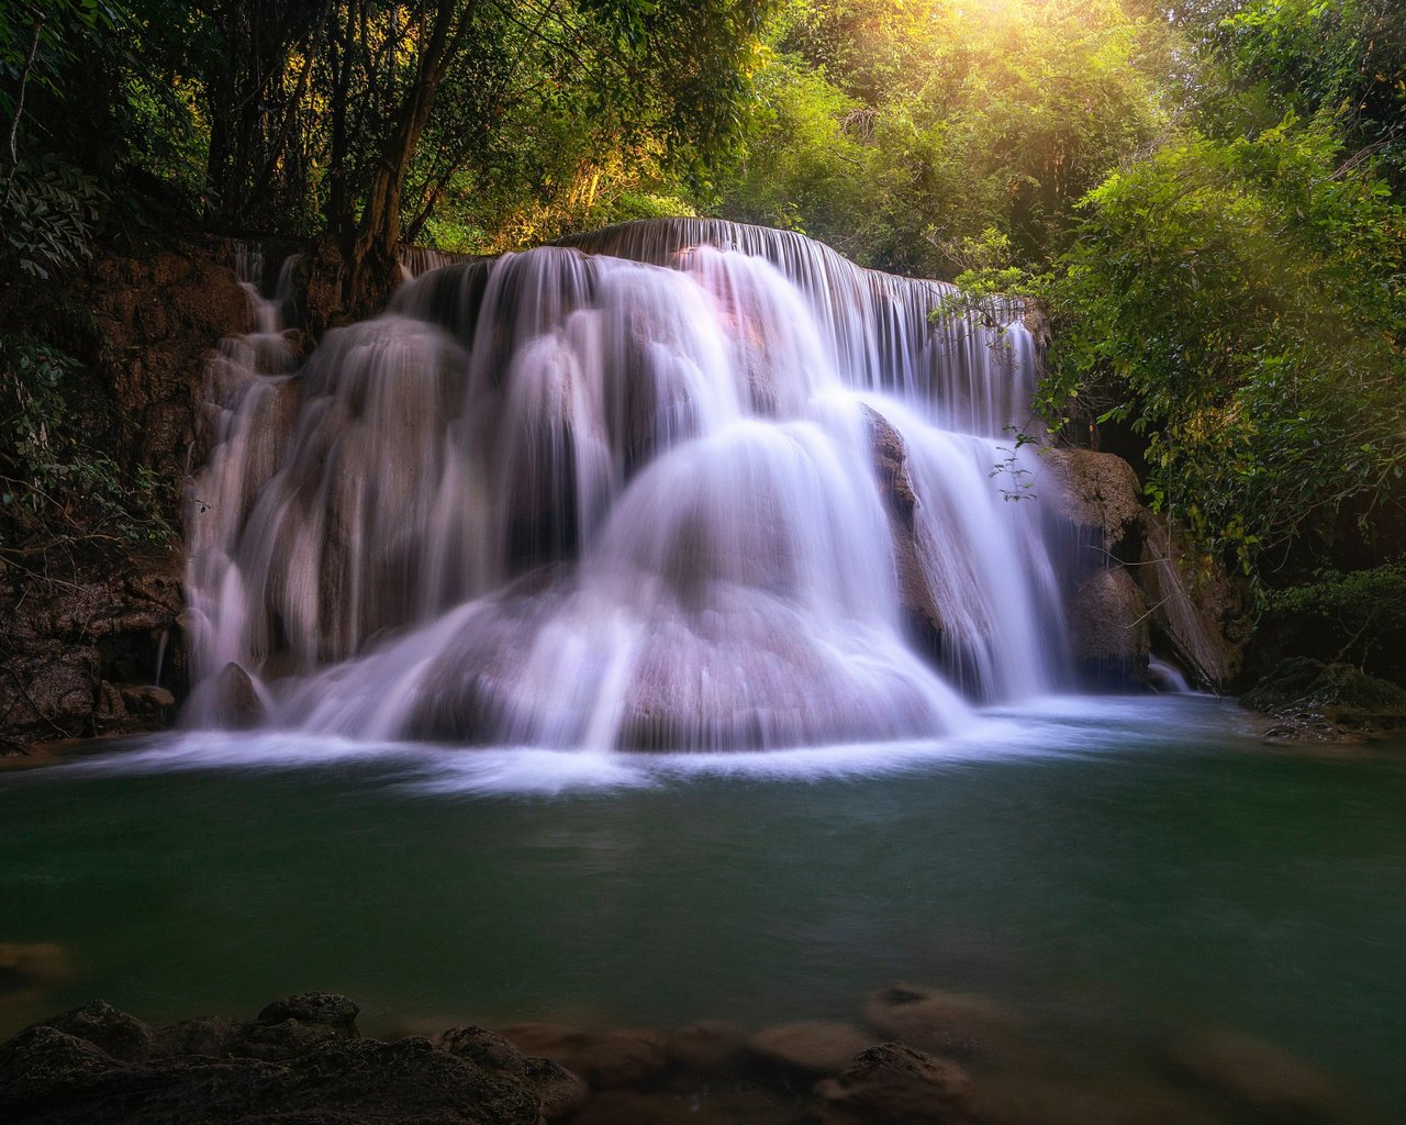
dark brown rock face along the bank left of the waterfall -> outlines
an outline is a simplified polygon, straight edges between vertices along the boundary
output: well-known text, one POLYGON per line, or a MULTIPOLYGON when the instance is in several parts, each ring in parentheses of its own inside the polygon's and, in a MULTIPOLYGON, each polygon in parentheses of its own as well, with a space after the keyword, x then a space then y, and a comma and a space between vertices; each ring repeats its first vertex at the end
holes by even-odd
MULTIPOLYGON (((87 367, 96 440, 124 471, 169 485, 162 515, 173 527, 180 482, 204 457, 205 356, 249 322, 231 262, 219 242, 96 262, 80 297, 89 338, 67 349, 87 367)), ((181 570, 179 544, 120 539, 0 562, 0 752, 169 723, 186 688, 181 570)))

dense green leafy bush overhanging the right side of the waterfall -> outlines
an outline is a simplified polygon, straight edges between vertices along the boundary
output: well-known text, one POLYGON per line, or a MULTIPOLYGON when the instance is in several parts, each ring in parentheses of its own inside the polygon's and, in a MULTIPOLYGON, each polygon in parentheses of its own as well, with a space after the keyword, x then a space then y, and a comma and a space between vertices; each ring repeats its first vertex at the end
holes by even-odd
POLYGON ((1168 145, 1088 195, 1046 294, 1046 409, 1130 423, 1153 502, 1247 570, 1402 496, 1403 214, 1336 152, 1294 118, 1168 145))

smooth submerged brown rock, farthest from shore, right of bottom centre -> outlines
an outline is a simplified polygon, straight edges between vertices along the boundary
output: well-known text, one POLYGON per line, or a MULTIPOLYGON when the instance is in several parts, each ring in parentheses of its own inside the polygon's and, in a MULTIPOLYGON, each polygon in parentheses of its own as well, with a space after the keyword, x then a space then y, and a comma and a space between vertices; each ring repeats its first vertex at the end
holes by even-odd
POLYGON ((1019 1015, 991 997, 921 984, 894 984, 870 996, 865 1022, 887 1039, 948 1055, 988 1050, 1024 1027, 1019 1015))

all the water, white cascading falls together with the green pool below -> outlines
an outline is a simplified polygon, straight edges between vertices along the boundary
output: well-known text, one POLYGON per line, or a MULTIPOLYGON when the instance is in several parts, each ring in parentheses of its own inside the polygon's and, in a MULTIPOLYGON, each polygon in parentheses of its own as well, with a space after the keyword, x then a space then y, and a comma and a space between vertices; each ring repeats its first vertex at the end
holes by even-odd
POLYGON ((1206 1034, 1327 1074, 1292 1119, 1406 1114, 1406 766, 1059 693, 1018 309, 676 221, 432 270, 299 364, 264 264, 188 728, 0 776, 0 942, 49 951, 0 1034, 308 989, 381 1034, 859 1024, 910 982, 1021 1028, 993 1121, 1279 1119, 1178 1086, 1206 1034))

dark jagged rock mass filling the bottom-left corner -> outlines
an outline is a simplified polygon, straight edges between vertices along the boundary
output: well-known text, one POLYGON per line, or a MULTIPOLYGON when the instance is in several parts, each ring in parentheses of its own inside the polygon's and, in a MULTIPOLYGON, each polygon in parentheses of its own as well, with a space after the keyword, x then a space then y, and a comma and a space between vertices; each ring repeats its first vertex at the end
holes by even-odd
POLYGON ((311 993, 252 1022, 156 1031, 93 1001, 0 1046, 0 1121, 540 1125, 583 1097, 568 1072, 481 1028, 382 1043, 360 1038, 356 1012, 344 997, 311 993))

